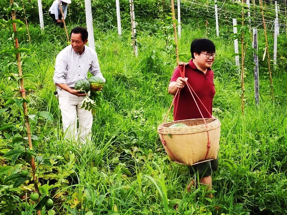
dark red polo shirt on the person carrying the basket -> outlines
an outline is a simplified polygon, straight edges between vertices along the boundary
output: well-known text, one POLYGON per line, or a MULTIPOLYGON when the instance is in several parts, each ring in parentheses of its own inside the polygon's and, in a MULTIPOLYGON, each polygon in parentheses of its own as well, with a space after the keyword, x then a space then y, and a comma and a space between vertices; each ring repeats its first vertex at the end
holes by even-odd
MULTIPOLYGON (((178 77, 181 77, 179 68, 177 68, 174 71, 170 82, 177 81, 178 77)), ((209 68, 207 69, 206 74, 204 74, 202 71, 196 68, 195 64, 191 59, 189 61, 189 65, 185 65, 185 77, 188 78, 187 82, 195 91, 195 93, 197 94, 203 105, 206 107, 208 112, 212 115, 212 100, 215 95, 215 86, 213 83, 214 79, 213 71, 209 68)), ((203 117, 210 118, 210 115, 207 113, 201 102, 197 99, 195 95, 194 97, 201 110, 203 117)), ((187 85, 185 85, 181 89, 180 95, 179 96, 177 95, 177 97, 174 100, 173 117, 174 120, 202 118, 187 85)))

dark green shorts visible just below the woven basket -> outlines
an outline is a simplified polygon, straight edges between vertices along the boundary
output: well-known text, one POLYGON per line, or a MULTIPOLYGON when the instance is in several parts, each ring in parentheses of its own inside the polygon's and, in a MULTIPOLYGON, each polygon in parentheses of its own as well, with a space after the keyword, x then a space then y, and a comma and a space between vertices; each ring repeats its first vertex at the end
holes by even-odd
POLYGON ((206 161, 203 163, 198 163, 192 166, 189 166, 189 174, 192 177, 195 174, 198 174, 200 178, 210 176, 212 172, 218 169, 218 157, 217 159, 206 161))

